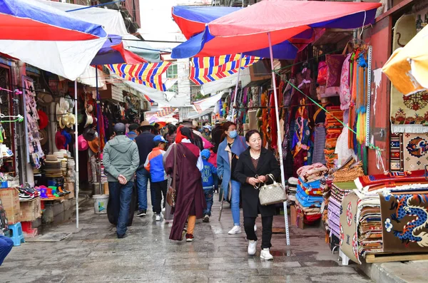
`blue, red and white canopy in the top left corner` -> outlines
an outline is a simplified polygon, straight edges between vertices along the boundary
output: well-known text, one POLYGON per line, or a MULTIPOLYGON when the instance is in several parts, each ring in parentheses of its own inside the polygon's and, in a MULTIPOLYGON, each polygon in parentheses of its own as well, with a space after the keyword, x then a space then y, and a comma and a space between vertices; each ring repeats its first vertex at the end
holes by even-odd
POLYGON ((99 24, 32 0, 0 0, 0 53, 76 80, 106 41, 99 24))

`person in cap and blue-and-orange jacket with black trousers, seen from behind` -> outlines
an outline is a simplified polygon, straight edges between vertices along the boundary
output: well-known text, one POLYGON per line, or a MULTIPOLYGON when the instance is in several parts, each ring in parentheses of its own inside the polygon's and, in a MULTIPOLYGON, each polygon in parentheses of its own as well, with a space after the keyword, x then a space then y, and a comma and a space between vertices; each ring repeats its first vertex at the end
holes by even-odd
POLYGON ((167 141, 162 135, 156 135, 153 138, 155 142, 155 148, 147 155, 146 163, 144 168, 150 173, 150 187, 155 190, 156 199, 153 204, 153 212, 156 213, 156 221, 161 221, 163 216, 161 211, 165 208, 166 202, 166 190, 168 185, 168 178, 163 168, 163 155, 165 155, 165 146, 167 141), (163 195, 163 205, 161 208, 163 195))

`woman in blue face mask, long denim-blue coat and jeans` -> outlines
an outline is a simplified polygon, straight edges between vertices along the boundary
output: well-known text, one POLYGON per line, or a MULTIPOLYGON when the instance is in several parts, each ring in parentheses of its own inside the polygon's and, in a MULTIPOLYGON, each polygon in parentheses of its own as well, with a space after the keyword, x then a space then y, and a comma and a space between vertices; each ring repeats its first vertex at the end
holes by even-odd
POLYGON ((223 179, 221 186, 226 200, 230 200, 230 208, 232 210, 233 228, 229 231, 230 235, 238 234, 240 228, 240 182, 233 178, 232 173, 235 171, 238 163, 239 155, 244 152, 248 145, 245 143, 245 138, 238 135, 236 124, 226 122, 223 124, 223 138, 218 145, 217 152, 217 174, 220 179, 223 179))

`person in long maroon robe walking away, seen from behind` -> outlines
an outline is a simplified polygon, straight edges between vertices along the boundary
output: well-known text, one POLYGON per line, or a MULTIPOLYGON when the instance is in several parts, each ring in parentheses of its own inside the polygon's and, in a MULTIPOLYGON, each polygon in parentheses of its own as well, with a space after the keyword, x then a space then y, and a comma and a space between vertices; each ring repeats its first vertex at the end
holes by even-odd
POLYGON ((165 160, 165 171, 172 175, 174 170, 174 150, 177 150, 177 174, 175 177, 176 200, 172 213, 173 227, 170 232, 171 240, 182 240, 185 222, 188 220, 188 230, 185 235, 187 242, 193 241, 193 230, 196 219, 203 217, 206 207, 205 195, 202 188, 200 170, 203 168, 199 148, 193 144, 193 133, 188 128, 179 127, 175 145, 165 160), (200 168, 198 168, 198 165, 200 168))

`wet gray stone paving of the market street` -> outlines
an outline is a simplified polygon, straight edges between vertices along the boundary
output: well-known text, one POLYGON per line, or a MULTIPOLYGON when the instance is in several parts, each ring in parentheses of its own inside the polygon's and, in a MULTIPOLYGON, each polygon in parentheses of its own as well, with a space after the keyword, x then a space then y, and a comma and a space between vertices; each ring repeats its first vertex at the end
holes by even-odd
MULTIPOLYGON (((272 237, 274 260, 247 254, 245 233, 228 235, 232 223, 225 205, 218 222, 218 202, 210 223, 198 221, 195 242, 171 242, 170 227, 153 215, 135 217, 126 239, 106 215, 94 215, 86 205, 80 229, 75 223, 54 232, 76 232, 61 242, 28 242, 14 247, 0 267, 0 282, 371 282, 356 264, 342 267, 332 255, 322 230, 291 228, 291 246, 284 234, 272 237)), ((258 219, 258 237, 261 222, 258 219)), ((276 216, 274 227, 284 227, 276 216)))

